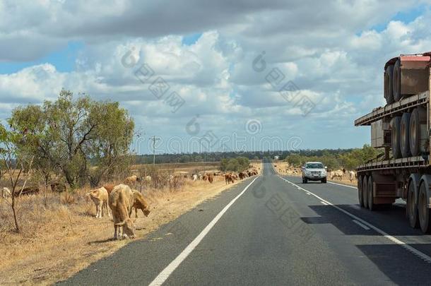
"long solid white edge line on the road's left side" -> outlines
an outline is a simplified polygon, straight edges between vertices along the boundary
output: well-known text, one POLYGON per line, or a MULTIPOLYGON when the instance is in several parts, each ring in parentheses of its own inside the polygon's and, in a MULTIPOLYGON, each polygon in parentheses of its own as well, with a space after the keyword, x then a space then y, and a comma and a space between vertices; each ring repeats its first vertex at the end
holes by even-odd
POLYGON ((201 233, 198 234, 198 236, 193 240, 193 242, 190 242, 190 244, 181 252, 181 254, 179 254, 177 258, 175 258, 168 266, 166 266, 165 269, 162 270, 162 272, 160 272, 159 275, 157 275, 153 282, 150 283, 150 286, 162 285, 163 282, 165 282, 167 278, 169 278, 169 276, 172 274, 172 272, 174 272, 174 270, 179 266, 179 264, 181 264, 182 261, 184 261, 184 259, 189 256, 191 251, 193 251, 196 246, 198 246, 199 242, 201 242, 203 237, 208 234, 208 232, 213 228, 215 223, 217 223, 218 220, 220 220, 220 218, 230 208, 230 206, 233 205, 233 203, 235 203, 235 201, 237 201, 237 199, 240 198, 240 196, 242 196, 242 194, 247 191, 247 189, 249 189, 249 186, 251 186, 257 178, 259 178, 259 176, 254 178, 254 180, 250 184, 248 184, 238 196, 236 196, 232 201, 230 201, 230 203, 228 203, 228 205, 226 205, 225 208, 223 208, 223 210, 218 213, 218 215, 215 215, 215 218, 213 218, 213 220, 211 220, 211 222, 201 231, 201 233))

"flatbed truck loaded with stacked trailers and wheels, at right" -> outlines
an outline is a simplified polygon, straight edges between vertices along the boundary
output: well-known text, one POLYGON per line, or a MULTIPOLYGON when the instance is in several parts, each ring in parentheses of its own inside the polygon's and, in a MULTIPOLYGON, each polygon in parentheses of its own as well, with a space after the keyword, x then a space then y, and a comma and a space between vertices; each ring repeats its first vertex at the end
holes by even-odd
POLYGON ((355 120, 371 126, 371 145, 382 152, 357 167, 362 208, 406 202, 411 227, 431 232, 431 52, 401 54, 384 66, 386 105, 355 120))

